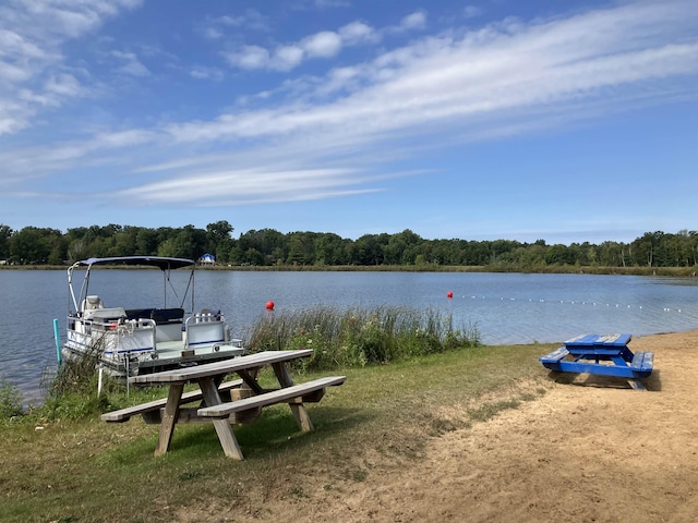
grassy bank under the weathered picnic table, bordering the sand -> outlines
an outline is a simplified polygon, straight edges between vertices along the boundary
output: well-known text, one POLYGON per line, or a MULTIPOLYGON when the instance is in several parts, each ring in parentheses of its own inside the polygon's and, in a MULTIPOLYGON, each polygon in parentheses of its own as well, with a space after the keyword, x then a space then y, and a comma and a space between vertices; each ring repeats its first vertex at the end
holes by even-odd
MULTIPOLYGON (((236 427, 243 462, 224 457, 209 425, 178 426, 171 451, 156 459, 157 426, 141 418, 106 424, 97 414, 37 411, 0 422, 0 521, 165 522, 182 511, 264 521, 266 501, 340 494, 383 471, 419 466, 431 438, 533 401, 545 391, 537 356, 550 349, 477 346, 340 368, 347 382, 309 405, 315 431, 300 433, 286 405, 236 427)), ((298 381, 326 374, 306 370, 298 381)))

